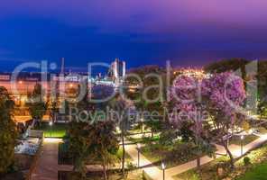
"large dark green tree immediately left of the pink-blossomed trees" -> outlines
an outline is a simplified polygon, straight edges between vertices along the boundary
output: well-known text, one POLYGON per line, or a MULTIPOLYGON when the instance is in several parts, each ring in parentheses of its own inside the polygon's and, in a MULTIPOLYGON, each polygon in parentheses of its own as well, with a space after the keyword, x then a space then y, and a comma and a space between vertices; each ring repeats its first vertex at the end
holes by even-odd
MULTIPOLYGON (((143 86, 137 92, 129 92, 128 96, 134 100, 134 106, 137 110, 154 112, 159 117, 143 117, 140 126, 143 124, 149 127, 153 132, 161 128, 161 119, 164 114, 164 102, 166 100, 166 71, 158 66, 138 67, 130 70, 131 74, 139 77, 143 86), (144 123, 143 123, 144 122, 144 123)), ((126 79, 130 84, 139 84, 138 79, 130 76, 126 79)))

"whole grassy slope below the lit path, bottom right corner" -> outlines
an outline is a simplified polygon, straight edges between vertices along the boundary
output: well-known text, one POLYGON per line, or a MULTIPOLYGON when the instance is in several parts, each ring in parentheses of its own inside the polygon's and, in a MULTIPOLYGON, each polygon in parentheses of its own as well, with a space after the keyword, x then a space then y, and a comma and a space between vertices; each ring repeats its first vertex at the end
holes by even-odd
MULTIPOLYGON (((267 144, 263 144, 262 147, 254 149, 246 155, 250 158, 251 165, 244 166, 244 157, 235 162, 234 171, 224 171, 224 177, 226 179, 237 180, 265 180, 267 179, 267 144)), ((173 176, 174 179, 187 179, 187 180, 211 180, 222 179, 218 177, 216 173, 216 167, 220 162, 227 162, 228 157, 220 157, 216 160, 207 163, 200 167, 200 170, 191 169, 180 175, 173 176)))

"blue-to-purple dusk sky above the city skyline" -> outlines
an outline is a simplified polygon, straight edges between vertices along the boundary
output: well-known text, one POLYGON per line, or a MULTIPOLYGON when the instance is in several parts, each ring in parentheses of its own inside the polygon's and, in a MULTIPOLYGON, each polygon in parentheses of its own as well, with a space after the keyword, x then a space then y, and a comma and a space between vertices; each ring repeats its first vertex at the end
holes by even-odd
POLYGON ((1 1, 0 70, 62 57, 67 67, 115 58, 127 67, 262 59, 266 7, 266 0, 1 1))

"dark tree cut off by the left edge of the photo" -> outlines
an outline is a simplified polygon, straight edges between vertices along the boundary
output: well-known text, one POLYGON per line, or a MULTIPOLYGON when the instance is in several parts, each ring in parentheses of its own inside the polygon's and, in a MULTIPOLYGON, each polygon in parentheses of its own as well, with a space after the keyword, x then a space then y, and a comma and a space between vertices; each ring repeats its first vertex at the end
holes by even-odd
POLYGON ((0 87, 0 176, 14 165, 17 131, 12 119, 14 102, 5 87, 0 87))

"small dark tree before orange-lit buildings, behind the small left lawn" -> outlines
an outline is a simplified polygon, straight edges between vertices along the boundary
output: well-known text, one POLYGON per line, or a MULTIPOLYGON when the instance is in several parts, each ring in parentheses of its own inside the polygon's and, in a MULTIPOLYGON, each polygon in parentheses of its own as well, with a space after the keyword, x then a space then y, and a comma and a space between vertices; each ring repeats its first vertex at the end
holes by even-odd
POLYGON ((44 93, 40 84, 36 84, 32 91, 32 94, 28 97, 28 107, 32 115, 32 119, 36 121, 37 125, 40 125, 43 115, 47 111, 48 101, 45 102, 44 93))

